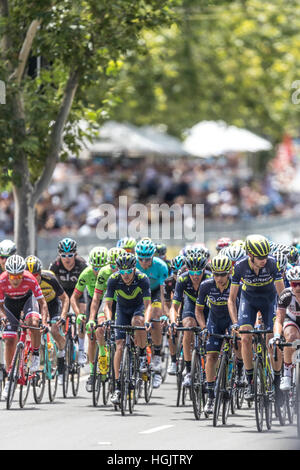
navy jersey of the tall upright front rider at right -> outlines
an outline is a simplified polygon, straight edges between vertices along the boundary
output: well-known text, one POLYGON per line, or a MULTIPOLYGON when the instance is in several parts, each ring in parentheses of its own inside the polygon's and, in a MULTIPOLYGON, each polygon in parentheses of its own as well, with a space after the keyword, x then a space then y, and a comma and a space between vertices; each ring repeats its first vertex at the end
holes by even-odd
POLYGON ((258 299, 273 300, 276 296, 274 282, 282 280, 282 273, 278 270, 276 260, 268 256, 266 265, 256 274, 251 268, 249 258, 238 261, 232 272, 232 285, 242 283, 242 291, 249 300, 257 303, 258 299))

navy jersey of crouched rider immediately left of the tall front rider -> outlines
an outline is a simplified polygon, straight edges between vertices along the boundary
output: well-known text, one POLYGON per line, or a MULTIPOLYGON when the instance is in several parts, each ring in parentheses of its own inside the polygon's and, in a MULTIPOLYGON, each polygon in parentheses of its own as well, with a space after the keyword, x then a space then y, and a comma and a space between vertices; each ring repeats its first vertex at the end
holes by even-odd
POLYGON ((208 279, 200 284, 196 305, 205 307, 208 305, 213 319, 223 319, 229 316, 228 298, 230 292, 231 279, 228 279, 227 286, 223 292, 218 289, 216 281, 208 279))

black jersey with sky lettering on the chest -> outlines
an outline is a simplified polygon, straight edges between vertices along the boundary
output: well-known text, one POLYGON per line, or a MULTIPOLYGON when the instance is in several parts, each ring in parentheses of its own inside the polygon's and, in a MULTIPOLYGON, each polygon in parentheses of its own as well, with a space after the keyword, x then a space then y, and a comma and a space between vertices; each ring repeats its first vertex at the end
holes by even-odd
POLYGON ((55 276, 64 288, 64 291, 69 297, 71 297, 78 278, 86 267, 87 263, 85 260, 81 256, 76 255, 75 265, 70 271, 68 271, 62 264, 60 256, 58 256, 55 261, 50 264, 49 270, 54 272, 55 276))

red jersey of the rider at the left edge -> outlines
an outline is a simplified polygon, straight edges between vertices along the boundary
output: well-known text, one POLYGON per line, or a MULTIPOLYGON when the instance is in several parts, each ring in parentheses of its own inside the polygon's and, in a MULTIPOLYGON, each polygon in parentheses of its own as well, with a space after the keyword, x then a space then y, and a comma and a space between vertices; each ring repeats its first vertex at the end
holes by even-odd
POLYGON ((5 271, 0 276, 0 302, 4 302, 5 297, 18 299, 24 297, 31 291, 38 300, 43 297, 40 285, 29 271, 24 271, 24 277, 19 287, 13 287, 9 282, 8 273, 5 271))

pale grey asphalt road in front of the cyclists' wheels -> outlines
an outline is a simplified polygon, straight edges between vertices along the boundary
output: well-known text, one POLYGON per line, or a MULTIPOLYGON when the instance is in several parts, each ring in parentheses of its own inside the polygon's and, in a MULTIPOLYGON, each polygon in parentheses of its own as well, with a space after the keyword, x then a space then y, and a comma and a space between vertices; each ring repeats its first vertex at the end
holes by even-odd
POLYGON ((92 406, 82 377, 79 396, 40 405, 32 392, 24 409, 17 401, 11 410, 0 402, 0 449, 66 450, 299 450, 295 425, 273 422, 258 433, 254 410, 244 408, 228 417, 226 426, 213 427, 211 419, 194 419, 191 402, 177 408, 175 378, 153 391, 150 404, 141 399, 133 415, 121 416, 111 405, 92 406))

